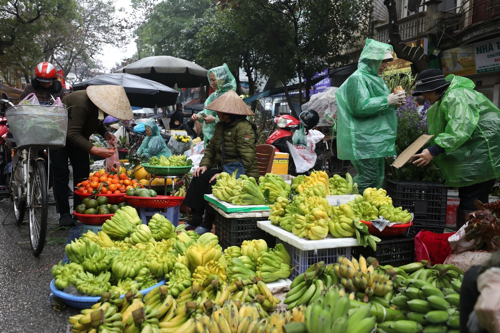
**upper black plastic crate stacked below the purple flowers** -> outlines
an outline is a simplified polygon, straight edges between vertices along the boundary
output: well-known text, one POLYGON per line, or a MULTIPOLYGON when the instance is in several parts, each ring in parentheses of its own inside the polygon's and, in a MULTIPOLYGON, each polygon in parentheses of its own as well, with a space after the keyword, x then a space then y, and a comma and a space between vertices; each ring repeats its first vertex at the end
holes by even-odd
POLYGON ((401 206, 414 214, 413 222, 446 225, 448 187, 421 180, 386 179, 385 190, 394 207, 401 206))

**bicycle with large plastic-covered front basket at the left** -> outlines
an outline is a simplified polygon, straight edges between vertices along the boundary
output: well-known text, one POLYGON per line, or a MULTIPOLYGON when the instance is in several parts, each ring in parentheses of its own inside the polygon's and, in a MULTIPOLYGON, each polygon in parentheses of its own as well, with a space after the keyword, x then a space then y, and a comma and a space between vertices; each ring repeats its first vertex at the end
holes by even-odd
MULTIPOLYGON (((0 100, 0 103, 10 102, 0 100)), ((25 211, 28 211, 31 252, 38 257, 45 246, 47 231, 50 170, 46 161, 50 160, 49 149, 65 146, 67 109, 63 106, 12 104, 5 114, 12 134, 5 142, 12 157, 6 185, 17 225, 23 222, 25 211)))

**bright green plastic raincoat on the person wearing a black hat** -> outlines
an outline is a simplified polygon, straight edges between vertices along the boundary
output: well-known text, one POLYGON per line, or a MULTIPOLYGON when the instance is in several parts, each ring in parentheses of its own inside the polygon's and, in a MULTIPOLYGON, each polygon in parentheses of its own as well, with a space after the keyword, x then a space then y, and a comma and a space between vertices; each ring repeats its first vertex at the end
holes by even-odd
POLYGON ((444 153, 434 160, 446 185, 462 187, 500 176, 500 110, 474 83, 450 74, 451 81, 441 99, 427 110, 430 145, 444 153))

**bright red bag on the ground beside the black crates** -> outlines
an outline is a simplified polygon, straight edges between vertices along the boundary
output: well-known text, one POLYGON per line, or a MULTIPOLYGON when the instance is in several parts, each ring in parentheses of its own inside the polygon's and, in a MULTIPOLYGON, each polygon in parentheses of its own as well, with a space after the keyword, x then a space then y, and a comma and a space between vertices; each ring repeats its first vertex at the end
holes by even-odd
POLYGON ((428 260, 435 264, 442 264, 451 254, 448 237, 455 233, 434 234, 422 230, 415 236, 415 258, 416 261, 428 260))

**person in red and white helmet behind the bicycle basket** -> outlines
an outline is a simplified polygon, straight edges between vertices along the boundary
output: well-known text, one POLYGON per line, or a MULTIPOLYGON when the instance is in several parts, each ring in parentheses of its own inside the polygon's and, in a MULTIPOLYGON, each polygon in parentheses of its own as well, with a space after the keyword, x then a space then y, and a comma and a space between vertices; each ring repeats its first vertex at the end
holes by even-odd
POLYGON ((19 99, 23 99, 30 93, 34 93, 38 101, 54 101, 59 97, 61 100, 68 92, 62 87, 61 81, 57 79, 55 67, 50 62, 40 62, 34 67, 35 79, 26 84, 19 99), (53 99, 52 99, 53 97, 53 99))

